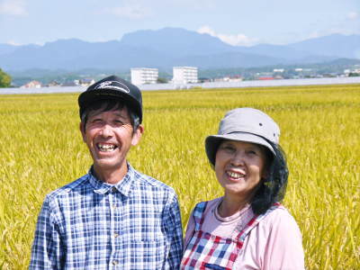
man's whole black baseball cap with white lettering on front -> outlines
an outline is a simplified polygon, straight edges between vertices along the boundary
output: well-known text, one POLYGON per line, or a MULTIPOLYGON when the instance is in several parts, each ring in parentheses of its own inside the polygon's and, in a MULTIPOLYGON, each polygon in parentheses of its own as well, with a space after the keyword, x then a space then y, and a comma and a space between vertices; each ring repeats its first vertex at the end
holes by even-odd
POLYGON ((90 85, 78 97, 80 117, 85 109, 95 101, 114 99, 123 101, 142 122, 142 97, 139 88, 118 76, 107 76, 90 85))

